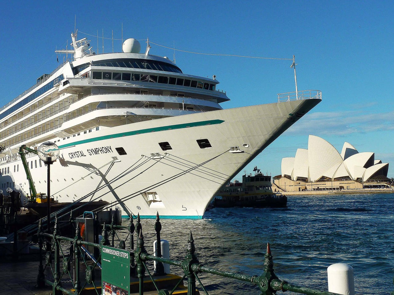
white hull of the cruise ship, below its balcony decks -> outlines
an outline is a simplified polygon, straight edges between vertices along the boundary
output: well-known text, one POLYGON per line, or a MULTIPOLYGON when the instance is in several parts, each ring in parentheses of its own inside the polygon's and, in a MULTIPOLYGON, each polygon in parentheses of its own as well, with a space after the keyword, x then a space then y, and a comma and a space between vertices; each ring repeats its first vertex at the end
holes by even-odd
MULTIPOLYGON (((85 196, 84 201, 115 202, 123 216, 153 218, 158 212, 161 218, 202 218, 223 184, 320 101, 200 112, 66 138, 57 143, 61 159, 51 165, 51 194, 59 202, 85 196), (212 147, 200 148, 199 139, 208 139, 212 147), (172 149, 163 151, 159 142, 169 142, 172 149), (127 154, 120 155, 117 147, 127 154), (230 147, 241 151, 232 153, 230 147)), ((46 192, 46 167, 35 167, 37 155, 27 161, 37 192, 46 192)), ((21 160, 3 168, 9 171, 0 180, 4 187, 15 183, 28 194, 21 160)))

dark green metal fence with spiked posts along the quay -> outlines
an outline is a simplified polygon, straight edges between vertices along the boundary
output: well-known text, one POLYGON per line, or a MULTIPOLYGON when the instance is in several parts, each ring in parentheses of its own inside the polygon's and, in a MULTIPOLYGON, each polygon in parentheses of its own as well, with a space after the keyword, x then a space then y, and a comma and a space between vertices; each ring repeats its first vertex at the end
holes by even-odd
MULTIPOLYGON (((72 220, 71 220, 72 222, 72 220)), ((97 222, 97 220, 96 220, 97 222)), ((98 226, 96 224, 96 226, 98 226)), ((86 288, 99 295, 101 291, 101 247, 102 245, 115 246, 115 237, 119 241, 118 247, 120 249, 126 248, 126 241, 129 240, 128 251, 130 251, 130 273, 132 277, 138 278, 139 281, 139 294, 144 293, 144 278, 149 277, 152 284, 156 288, 159 295, 171 295, 178 288, 180 284, 183 284, 184 280, 187 283, 187 294, 197 294, 196 289, 200 289, 204 294, 208 295, 208 291, 205 288, 200 276, 202 273, 217 275, 226 278, 232 278, 234 280, 247 282, 256 288, 256 294, 271 295, 277 291, 292 291, 299 294, 306 295, 335 295, 336 293, 319 291, 316 289, 307 288, 304 286, 297 286, 281 280, 275 275, 273 269, 273 258, 269 243, 267 244, 267 251, 264 256, 264 268, 260 275, 244 275, 240 273, 234 273, 230 271, 223 271, 215 268, 211 268, 201 264, 197 258, 195 251, 195 245, 193 235, 190 231, 188 243, 186 245, 186 255, 183 260, 173 260, 161 257, 160 246, 157 249, 157 256, 147 253, 145 249, 145 241, 142 231, 141 220, 139 216, 134 225, 133 218, 130 218, 127 227, 114 225, 102 226, 102 240, 99 243, 89 243, 83 241, 80 236, 80 229, 78 226, 75 227, 74 238, 61 236, 59 234, 58 219, 55 219, 55 226, 53 233, 46 233, 43 231, 41 222, 39 224, 39 231, 37 233, 37 240, 40 249, 40 264, 39 274, 37 276, 37 286, 43 287, 45 284, 52 286, 52 292, 54 295, 66 293, 69 295, 84 294, 86 288), (119 238, 117 230, 127 230, 128 235, 125 239, 119 238), (134 234, 136 234, 136 245, 134 245, 134 234), (110 241, 111 238, 111 241, 110 241), (44 246, 48 245, 48 249, 45 249, 45 263, 44 257, 44 246), (87 253, 86 246, 91 246, 95 250, 95 253, 87 253), (135 246, 135 247, 134 247, 135 246), (135 249, 134 249, 135 248, 135 249), (156 261, 156 271, 153 272, 149 262, 156 261), (157 278, 164 274, 163 264, 170 264, 179 267, 179 273, 181 274, 179 280, 172 289, 160 289, 156 282, 157 278), (49 271, 48 271, 49 269, 49 271), (45 272, 47 273, 45 275, 45 272), (82 273, 85 273, 82 278, 82 273), (49 273, 49 274, 48 274, 49 273), (66 286, 68 284, 68 287, 66 286)), ((160 218, 156 216, 155 231, 156 239, 160 241, 160 231, 162 229, 160 218)), ((160 242, 158 243, 160 245, 160 242)), ((145 280, 146 283, 146 280, 145 280)), ((151 290, 152 291, 152 290, 151 290)))

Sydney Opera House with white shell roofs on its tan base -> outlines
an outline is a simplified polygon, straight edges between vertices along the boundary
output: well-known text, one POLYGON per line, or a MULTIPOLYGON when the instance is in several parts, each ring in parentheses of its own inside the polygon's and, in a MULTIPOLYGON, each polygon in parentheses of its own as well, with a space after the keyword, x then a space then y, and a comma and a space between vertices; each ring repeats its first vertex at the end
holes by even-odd
POLYGON ((342 152, 323 138, 309 135, 308 149, 282 159, 282 174, 273 177, 276 190, 342 190, 388 187, 388 163, 372 152, 359 153, 348 142, 342 152))

